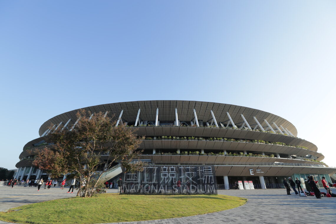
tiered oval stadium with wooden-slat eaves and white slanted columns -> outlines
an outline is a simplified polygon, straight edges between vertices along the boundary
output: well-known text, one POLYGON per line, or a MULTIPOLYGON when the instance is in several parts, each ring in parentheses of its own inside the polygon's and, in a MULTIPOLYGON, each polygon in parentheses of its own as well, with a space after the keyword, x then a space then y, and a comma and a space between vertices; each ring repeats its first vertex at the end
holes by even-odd
MULTIPOLYGON (((316 145, 297 137, 292 123, 258 109, 186 100, 119 102, 83 109, 115 115, 117 125, 126 125, 137 136, 145 136, 140 159, 149 164, 214 166, 219 188, 229 189, 236 181, 252 181, 257 188, 280 187, 283 177, 298 177, 303 183, 307 175, 315 176, 322 187, 322 176, 331 181, 329 175, 336 172, 336 168, 321 162, 324 156, 316 145)), ((19 155, 15 178, 47 177, 32 166, 34 154, 27 149, 52 147, 44 140, 48 126, 64 125, 71 131, 77 111, 42 124, 40 137, 28 142, 19 155)), ((112 169, 109 178, 119 177, 120 171, 112 169)))

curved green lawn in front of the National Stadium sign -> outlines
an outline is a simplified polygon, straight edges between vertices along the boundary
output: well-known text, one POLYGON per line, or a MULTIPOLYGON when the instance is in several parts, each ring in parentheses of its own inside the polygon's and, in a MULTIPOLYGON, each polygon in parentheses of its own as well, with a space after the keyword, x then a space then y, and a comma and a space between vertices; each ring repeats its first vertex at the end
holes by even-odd
POLYGON ((247 199, 226 195, 120 195, 64 198, 0 212, 0 220, 16 223, 107 223, 199 215, 236 208, 247 199))

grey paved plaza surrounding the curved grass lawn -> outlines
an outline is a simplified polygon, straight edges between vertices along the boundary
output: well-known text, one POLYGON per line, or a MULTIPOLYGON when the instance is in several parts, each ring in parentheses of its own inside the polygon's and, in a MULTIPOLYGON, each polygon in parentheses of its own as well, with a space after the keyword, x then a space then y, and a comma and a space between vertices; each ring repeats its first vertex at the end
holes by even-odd
MULTIPOLYGON (((68 189, 68 188, 67 188, 68 189)), ((50 190, 33 187, 0 187, 0 211, 58 198, 76 196, 59 187, 50 190)), ((333 188, 335 189, 335 188, 333 188)), ((325 192, 324 189, 320 188, 325 192)), ((336 191, 336 190, 335 190, 336 191)), ((109 189, 108 192, 117 192, 109 189)), ((141 222, 132 224, 208 224, 208 223, 257 223, 257 224, 299 224, 336 223, 336 197, 321 198, 287 195, 285 189, 218 190, 218 194, 240 196, 248 199, 241 207, 205 215, 141 222)), ((5 224, 7 222, 1 222, 5 224)), ((121 223, 119 223, 121 224, 121 223)))

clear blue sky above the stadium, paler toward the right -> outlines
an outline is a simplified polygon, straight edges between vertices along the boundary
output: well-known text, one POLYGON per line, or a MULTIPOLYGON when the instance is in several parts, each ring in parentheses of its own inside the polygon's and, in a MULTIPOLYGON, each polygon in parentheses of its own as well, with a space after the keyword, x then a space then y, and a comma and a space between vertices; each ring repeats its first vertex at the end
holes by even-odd
POLYGON ((0 166, 43 122, 151 99, 292 122, 335 166, 335 1, 0 1, 0 166))

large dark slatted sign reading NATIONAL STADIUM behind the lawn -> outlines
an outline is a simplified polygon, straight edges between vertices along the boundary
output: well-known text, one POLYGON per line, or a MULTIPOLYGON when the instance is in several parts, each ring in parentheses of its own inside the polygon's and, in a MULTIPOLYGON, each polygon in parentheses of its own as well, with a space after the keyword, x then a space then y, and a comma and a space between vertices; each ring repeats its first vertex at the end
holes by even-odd
POLYGON ((217 194, 214 166, 146 165, 125 173, 123 194, 217 194))

